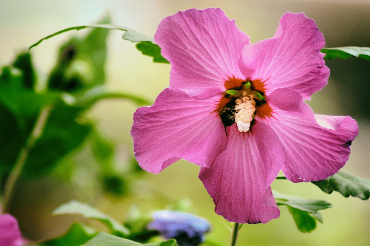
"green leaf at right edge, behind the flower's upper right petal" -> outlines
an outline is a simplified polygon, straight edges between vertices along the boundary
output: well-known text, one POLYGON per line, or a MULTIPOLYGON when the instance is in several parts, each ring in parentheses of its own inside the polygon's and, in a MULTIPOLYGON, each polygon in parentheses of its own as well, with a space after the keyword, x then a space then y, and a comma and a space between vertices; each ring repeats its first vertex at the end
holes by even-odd
POLYGON ((360 57, 370 61, 370 48, 369 47, 336 47, 324 48, 321 52, 326 54, 324 59, 332 60, 335 58, 347 59, 350 57, 360 57))

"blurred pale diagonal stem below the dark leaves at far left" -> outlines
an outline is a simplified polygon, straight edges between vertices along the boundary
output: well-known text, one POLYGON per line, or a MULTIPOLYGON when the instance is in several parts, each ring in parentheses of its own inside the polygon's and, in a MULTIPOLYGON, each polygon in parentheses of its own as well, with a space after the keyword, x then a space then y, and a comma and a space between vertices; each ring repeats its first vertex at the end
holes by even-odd
POLYGON ((36 141, 41 137, 44 131, 47 118, 52 108, 53 106, 48 105, 40 111, 37 120, 33 126, 33 129, 30 133, 30 136, 28 136, 26 143, 24 143, 24 146, 21 148, 19 152, 17 160, 14 163, 14 167, 11 170, 9 177, 7 178, 4 185, 3 213, 9 213, 10 211, 10 203, 13 198, 16 182, 19 178, 19 175, 21 174, 24 164, 26 163, 30 150, 34 147, 36 141))

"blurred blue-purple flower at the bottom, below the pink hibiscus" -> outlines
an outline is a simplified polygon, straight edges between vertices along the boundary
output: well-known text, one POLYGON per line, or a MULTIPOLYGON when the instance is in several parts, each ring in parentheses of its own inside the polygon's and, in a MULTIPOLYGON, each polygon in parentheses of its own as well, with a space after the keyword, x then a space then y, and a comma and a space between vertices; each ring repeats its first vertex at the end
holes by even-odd
POLYGON ((211 230, 209 222, 190 213, 158 211, 148 229, 157 230, 164 238, 176 239, 179 246, 197 246, 204 241, 204 233, 211 230))

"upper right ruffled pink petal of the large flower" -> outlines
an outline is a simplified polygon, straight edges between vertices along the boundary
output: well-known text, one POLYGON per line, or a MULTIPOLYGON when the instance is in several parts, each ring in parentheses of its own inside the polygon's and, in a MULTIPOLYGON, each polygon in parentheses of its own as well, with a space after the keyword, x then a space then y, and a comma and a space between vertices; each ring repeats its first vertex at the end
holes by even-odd
POLYGON ((329 78, 320 53, 324 45, 312 19, 303 13, 286 13, 274 38, 244 47, 240 69, 246 78, 266 81, 267 95, 277 88, 289 88, 308 100, 329 78))

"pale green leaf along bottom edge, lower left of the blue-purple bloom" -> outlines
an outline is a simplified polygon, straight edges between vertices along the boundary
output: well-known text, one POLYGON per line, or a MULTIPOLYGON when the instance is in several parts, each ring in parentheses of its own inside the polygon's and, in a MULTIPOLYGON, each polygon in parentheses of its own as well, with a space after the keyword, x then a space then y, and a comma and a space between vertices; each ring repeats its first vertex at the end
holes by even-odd
POLYGON ((176 240, 171 239, 161 243, 142 244, 125 238, 101 232, 82 246, 178 246, 176 240))

